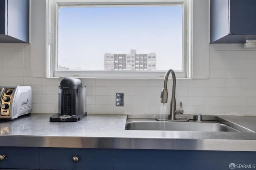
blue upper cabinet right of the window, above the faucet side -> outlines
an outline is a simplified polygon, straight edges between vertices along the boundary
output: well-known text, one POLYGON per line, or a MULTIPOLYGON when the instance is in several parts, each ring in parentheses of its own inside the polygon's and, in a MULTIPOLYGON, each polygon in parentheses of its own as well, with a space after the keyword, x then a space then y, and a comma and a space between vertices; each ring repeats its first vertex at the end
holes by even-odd
POLYGON ((211 0, 211 43, 256 39, 256 0, 211 0))

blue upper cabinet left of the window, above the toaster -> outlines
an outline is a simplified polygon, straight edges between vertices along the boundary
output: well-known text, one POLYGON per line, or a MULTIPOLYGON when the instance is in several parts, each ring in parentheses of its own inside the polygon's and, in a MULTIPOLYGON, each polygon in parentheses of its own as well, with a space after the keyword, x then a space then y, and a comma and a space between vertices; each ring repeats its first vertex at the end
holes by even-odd
POLYGON ((0 43, 29 43, 29 0, 0 0, 0 43))

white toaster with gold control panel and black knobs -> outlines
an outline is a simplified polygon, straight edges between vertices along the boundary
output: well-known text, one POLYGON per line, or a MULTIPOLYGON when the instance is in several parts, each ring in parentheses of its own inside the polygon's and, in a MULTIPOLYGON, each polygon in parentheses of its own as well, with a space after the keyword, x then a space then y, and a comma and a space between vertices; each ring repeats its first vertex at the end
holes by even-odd
POLYGON ((32 111, 30 86, 0 86, 0 119, 13 120, 32 111))

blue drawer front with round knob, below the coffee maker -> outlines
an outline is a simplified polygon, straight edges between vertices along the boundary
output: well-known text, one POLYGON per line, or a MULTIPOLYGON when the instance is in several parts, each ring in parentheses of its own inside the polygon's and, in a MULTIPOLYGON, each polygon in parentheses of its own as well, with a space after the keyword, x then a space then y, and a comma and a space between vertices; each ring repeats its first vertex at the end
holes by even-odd
POLYGON ((40 168, 49 170, 113 170, 114 154, 108 149, 40 148, 40 168), (76 156, 78 161, 73 162, 76 156))

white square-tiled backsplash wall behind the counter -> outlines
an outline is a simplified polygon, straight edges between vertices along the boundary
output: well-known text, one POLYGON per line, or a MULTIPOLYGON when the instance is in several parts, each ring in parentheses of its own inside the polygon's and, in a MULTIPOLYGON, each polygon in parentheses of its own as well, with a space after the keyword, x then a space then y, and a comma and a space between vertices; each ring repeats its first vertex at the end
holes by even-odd
MULTIPOLYGON (((59 81, 30 77, 32 57, 29 44, 0 44, 0 85, 30 85, 32 112, 57 113, 59 81)), ((88 113, 160 112, 163 79, 82 81, 87 86, 88 113), (125 93, 124 107, 115 106, 116 92, 125 93)), ((170 79, 169 95, 171 82, 170 79)), ((256 115, 256 48, 211 44, 210 79, 177 79, 176 100, 177 104, 182 101, 184 113, 256 115)))

